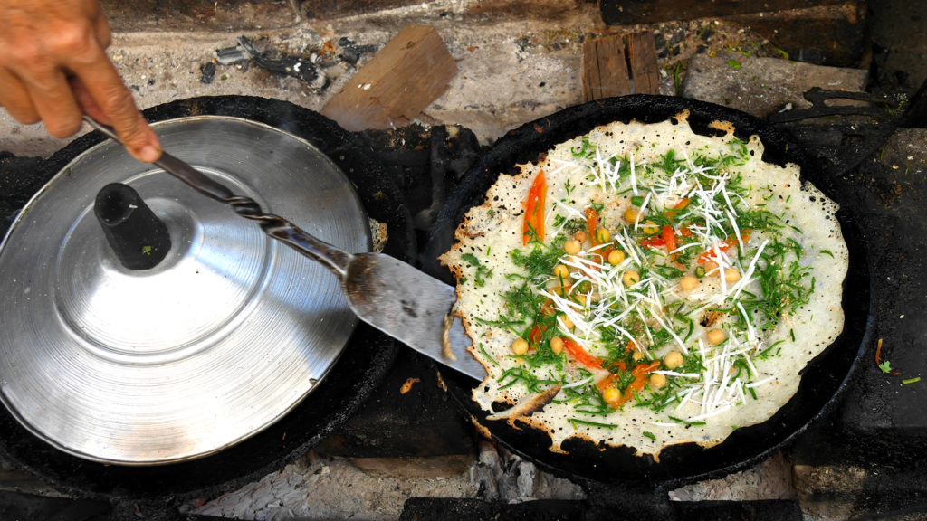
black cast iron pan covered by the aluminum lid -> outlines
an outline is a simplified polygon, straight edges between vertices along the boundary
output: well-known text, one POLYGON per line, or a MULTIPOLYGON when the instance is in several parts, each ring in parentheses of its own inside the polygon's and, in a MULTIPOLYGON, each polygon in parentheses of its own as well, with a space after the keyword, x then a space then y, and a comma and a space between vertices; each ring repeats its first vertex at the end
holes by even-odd
MULTIPOLYGON (((373 151, 353 134, 316 112, 296 105, 247 96, 200 97, 145 111, 148 121, 193 115, 222 115, 260 121, 293 133, 319 147, 353 182, 367 213, 386 222, 386 252, 404 261, 414 259, 409 211, 373 151)), ((47 181, 71 159, 104 140, 89 133, 44 161, 47 181)), ((233 215, 230 219, 235 219, 233 215)), ((5 233, 6 230, 0 230, 5 233)), ((50 482, 57 489, 84 497, 113 500, 160 499, 173 496, 212 497, 291 463, 349 418, 387 374, 400 343, 359 324, 324 383, 282 420, 259 434, 214 455, 182 464, 122 467, 97 464, 57 451, 32 436, 0 407, 0 453, 50 482), (194 495, 196 494, 196 495, 194 495)))

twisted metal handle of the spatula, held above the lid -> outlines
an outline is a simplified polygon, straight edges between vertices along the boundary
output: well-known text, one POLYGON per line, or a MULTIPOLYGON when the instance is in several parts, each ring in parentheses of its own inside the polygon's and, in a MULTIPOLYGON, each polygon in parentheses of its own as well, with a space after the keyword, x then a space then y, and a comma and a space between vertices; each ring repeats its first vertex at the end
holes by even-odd
MULTIPOLYGON (((95 121, 90 116, 84 116, 83 121, 87 121, 90 126, 104 133, 113 141, 122 143, 119 135, 107 125, 95 121)), ((316 238, 279 215, 265 213, 261 210, 257 201, 251 197, 235 196, 224 184, 213 181, 203 172, 197 171, 183 160, 177 159, 167 152, 162 153, 161 158, 155 161, 155 164, 164 169, 164 172, 168 172, 185 184, 189 184, 200 194, 231 206, 235 213, 245 219, 258 222, 260 229, 265 234, 285 243, 311 260, 321 262, 326 268, 337 274, 339 279, 344 280, 348 273, 348 265, 353 259, 350 253, 316 238)))

